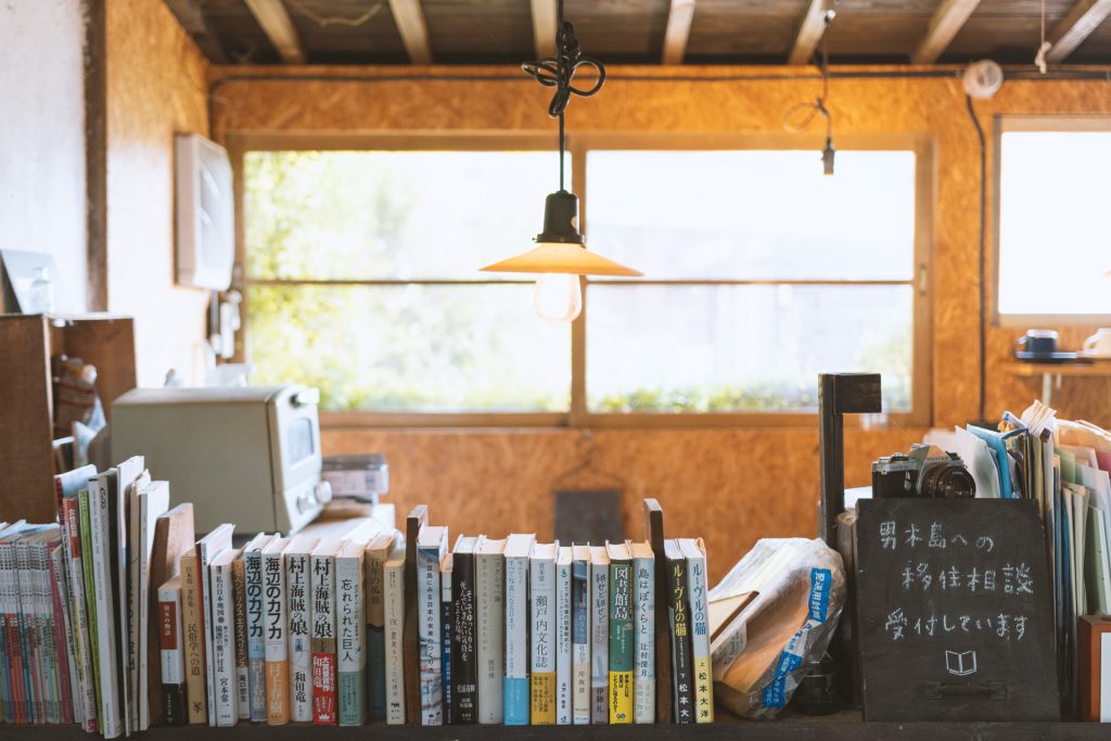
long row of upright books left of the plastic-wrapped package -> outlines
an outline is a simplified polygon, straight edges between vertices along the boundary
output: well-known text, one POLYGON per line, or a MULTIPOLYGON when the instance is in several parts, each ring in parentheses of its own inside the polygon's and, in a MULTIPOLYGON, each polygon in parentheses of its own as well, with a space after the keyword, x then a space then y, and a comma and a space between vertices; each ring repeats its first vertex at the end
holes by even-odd
POLYGON ((713 720, 701 540, 658 561, 648 543, 531 534, 449 549, 423 525, 407 563, 377 525, 237 548, 227 523, 194 542, 191 507, 169 509, 141 457, 56 488, 58 522, 0 523, 4 722, 116 738, 163 719, 404 723, 419 705, 429 725, 650 723, 658 605, 675 722, 713 720))

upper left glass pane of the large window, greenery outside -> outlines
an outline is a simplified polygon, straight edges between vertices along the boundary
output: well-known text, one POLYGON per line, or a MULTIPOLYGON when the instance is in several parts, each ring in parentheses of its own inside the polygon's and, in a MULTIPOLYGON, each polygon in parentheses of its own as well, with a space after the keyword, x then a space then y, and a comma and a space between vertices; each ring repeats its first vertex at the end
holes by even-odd
POLYGON ((243 170, 252 278, 497 280, 479 268, 532 247, 559 186, 554 152, 248 152, 243 170))

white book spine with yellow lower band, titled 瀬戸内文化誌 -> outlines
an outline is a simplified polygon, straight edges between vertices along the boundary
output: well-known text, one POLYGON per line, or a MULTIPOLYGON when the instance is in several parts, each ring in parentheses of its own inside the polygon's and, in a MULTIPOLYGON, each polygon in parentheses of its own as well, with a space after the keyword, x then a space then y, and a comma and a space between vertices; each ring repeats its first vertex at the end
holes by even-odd
POLYGON ((530 715, 533 725, 556 724, 556 564, 533 559, 531 588, 530 715))

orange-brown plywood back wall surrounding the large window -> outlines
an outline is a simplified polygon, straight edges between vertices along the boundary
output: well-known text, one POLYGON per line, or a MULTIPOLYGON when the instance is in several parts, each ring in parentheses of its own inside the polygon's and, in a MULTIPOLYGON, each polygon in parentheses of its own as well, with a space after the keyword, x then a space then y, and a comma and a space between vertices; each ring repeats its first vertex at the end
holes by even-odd
MULTIPOLYGON (((660 68, 613 68, 605 90, 574 101, 570 131, 775 133, 783 112, 818 93, 814 80, 769 80, 798 68, 682 68, 688 79, 653 79, 660 68), (729 79, 753 77, 763 79, 729 79), (710 80, 709 78, 718 78, 710 80)), ((544 116, 549 92, 519 81, 443 81, 427 74, 510 77, 514 69, 381 68, 213 70, 217 136, 229 132, 382 133, 517 131, 553 132, 544 116), (413 79, 398 79, 407 74, 413 79), (267 79, 243 79, 266 76, 267 79)), ((1111 114, 1107 82, 1010 81, 977 110, 990 129, 997 113, 1111 114)), ((829 107, 835 134, 924 134, 933 143, 934 270, 932 306, 932 414, 938 427, 977 415, 977 280, 979 150, 964 96, 952 79, 837 80, 829 107)), ((819 133, 805 140, 820 147, 819 133)), ((989 170, 990 171, 990 170, 989 170)), ((1109 253, 1111 254, 1111 253, 1109 253)), ((1111 258, 1109 258, 1111 259, 1111 258)), ((989 266, 989 274, 990 273, 989 266)), ((1092 328, 1063 332, 1077 344, 1092 328)), ((1004 372, 1017 330, 991 328, 988 337, 989 413, 1021 411, 1038 393, 1035 381, 1004 372)), ((1111 383, 1075 380, 1055 398, 1067 415, 1111 422, 1111 383)), ((850 433, 849 485, 868 482, 869 463, 905 449, 924 429, 850 433)), ((551 531, 551 481, 577 460, 573 431, 328 430, 326 452, 387 454, 400 509, 427 502, 432 518, 456 531, 551 531)), ((711 571, 720 577, 752 542, 769 535, 813 535, 817 530, 815 430, 605 430, 593 435, 600 468, 625 481, 627 525, 635 501, 661 500, 672 534, 702 534, 711 571)))

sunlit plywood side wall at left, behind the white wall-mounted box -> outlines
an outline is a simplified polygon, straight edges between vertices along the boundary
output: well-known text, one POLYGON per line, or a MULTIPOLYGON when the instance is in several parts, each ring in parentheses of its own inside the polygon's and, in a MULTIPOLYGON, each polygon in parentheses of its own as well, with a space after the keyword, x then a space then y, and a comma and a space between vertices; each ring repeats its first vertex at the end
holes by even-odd
POLYGON ((164 2, 108 0, 108 308, 140 385, 190 371, 208 293, 174 284, 173 134, 208 133, 207 63, 164 2))

